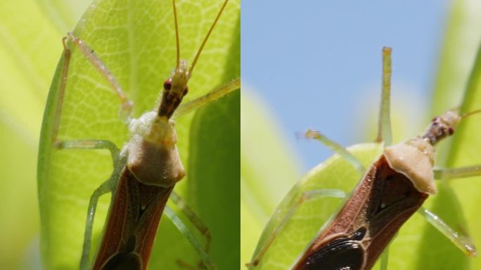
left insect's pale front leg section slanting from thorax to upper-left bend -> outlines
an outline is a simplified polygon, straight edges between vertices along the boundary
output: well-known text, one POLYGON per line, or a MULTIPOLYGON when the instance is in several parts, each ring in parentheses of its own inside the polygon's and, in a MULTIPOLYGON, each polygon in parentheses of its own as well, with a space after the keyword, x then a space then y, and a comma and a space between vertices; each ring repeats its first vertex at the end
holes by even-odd
POLYGON ((124 91, 122 91, 122 87, 120 86, 119 82, 117 82, 117 79, 115 79, 114 75, 110 70, 108 70, 107 66, 102 62, 98 56, 94 53, 94 50, 91 49, 82 39, 79 39, 78 37, 75 37, 72 33, 68 33, 67 37, 63 38, 63 46, 65 48, 65 51, 70 51, 70 49, 67 48, 67 45, 65 44, 65 40, 70 40, 72 44, 77 46, 77 48, 82 52, 82 54, 85 56, 89 62, 94 65, 94 68, 98 70, 98 72, 107 79, 108 83, 110 86, 112 86, 113 90, 115 91, 115 94, 120 98, 120 119, 124 123, 128 123, 130 120, 130 113, 132 112, 132 101, 127 98, 127 96, 124 94, 124 91))

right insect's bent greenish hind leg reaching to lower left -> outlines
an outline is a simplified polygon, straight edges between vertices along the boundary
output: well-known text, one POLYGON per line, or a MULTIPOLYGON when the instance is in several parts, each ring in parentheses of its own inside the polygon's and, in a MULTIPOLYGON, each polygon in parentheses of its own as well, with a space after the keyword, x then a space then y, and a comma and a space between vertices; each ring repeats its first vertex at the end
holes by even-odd
POLYGON ((252 261, 246 264, 246 266, 251 267, 251 266, 257 266, 257 264, 259 264, 262 257, 264 257, 264 254, 267 252, 271 244, 274 243, 274 240, 276 239, 278 234, 288 224, 288 221, 293 216, 293 214, 295 214, 295 211, 297 210, 298 207, 300 207, 300 205, 308 202, 309 200, 314 200, 314 199, 323 198, 323 197, 345 198, 346 193, 339 189, 318 189, 314 191, 304 191, 299 196, 299 198, 297 198, 294 205, 291 206, 289 210, 286 212, 286 215, 281 219, 281 222, 278 224, 278 226, 276 226, 276 229, 274 229, 271 236, 269 236, 269 238, 266 240, 266 242, 264 243, 262 248, 259 250, 259 252, 257 252, 253 256, 252 261))

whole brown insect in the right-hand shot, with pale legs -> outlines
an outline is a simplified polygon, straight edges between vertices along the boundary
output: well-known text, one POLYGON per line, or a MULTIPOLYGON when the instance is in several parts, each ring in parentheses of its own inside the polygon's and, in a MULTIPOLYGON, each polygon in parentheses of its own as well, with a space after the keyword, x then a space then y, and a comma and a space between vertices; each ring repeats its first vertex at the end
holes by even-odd
MULTIPOLYGON (((290 205, 288 210, 278 211, 283 216, 271 218, 271 222, 274 220, 274 224, 277 225, 268 224, 266 227, 270 235, 262 236, 252 262, 248 264, 252 269, 257 266, 259 269, 264 268, 262 264, 264 255, 275 242, 276 236, 289 226, 290 219, 298 208, 309 203, 310 200, 319 198, 345 198, 345 202, 331 221, 322 226, 307 248, 303 248, 295 262, 290 265, 290 269, 371 269, 399 228, 416 211, 423 214, 436 229, 447 236, 466 255, 471 257, 476 255, 474 245, 468 238, 456 233, 421 205, 428 195, 436 193, 433 181, 435 176, 438 179, 449 179, 481 174, 480 166, 434 169, 433 171, 434 145, 452 135, 454 127, 462 118, 480 113, 481 110, 465 115, 448 111, 440 117, 435 117, 422 136, 391 146, 389 48, 383 50, 383 56, 383 98, 377 139, 378 142, 384 139, 386 143, 383 152, 364 174, 364 165, 357 161, 354 155, 337 143, 326 139, 318 131, 307 131, 307 138, 323 141, 364 176, 349 195, 337 188, 304 190, 297 193, 300 186, 307 183, 301 183, 293 188, 288 195, 290 200, 281 204, 281 207, 290 205)), ((329 201, 327 203, 329 204, 329 201)), ((296 243, 295 240, 292 240, 292 243, 296 243)), ((271 266, 272 264, 267 262, 265 269, 271 266)), ((385 269, 386 265, 384 264, 383 267, 385 269)))

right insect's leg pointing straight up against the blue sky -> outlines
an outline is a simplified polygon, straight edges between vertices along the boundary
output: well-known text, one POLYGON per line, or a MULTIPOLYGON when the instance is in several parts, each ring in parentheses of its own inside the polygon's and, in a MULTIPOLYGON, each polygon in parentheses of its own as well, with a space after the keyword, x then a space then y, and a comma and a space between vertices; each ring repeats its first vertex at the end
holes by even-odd
POLYGON ((385 146, 392 143, 391 131, 391 48, 383 47, 383 91, 381 94, 381 104, 378 120, 378 137, 376 142, 384 141, 385 146))

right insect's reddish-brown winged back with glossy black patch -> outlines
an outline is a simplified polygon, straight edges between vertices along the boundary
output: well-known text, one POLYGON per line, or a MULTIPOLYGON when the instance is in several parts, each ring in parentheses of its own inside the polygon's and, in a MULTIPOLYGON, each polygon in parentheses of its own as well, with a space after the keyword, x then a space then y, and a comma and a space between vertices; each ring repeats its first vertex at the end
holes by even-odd
POLYGON ((427 198, 381 155, 293 269, 371 269, 427 198))

